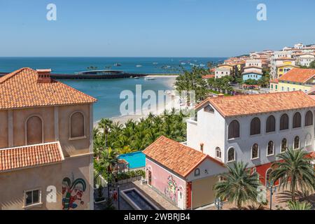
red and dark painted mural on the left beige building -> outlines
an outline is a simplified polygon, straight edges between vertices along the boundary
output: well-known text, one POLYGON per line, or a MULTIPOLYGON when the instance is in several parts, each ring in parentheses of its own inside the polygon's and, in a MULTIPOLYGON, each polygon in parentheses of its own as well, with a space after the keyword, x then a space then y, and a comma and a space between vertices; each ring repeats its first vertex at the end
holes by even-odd
POLYGON ((74 180, 73 174, 72 179, 69 179, 69 177, 65 177, 62 180, 62 209, 76 209, 76 207, 78 207, 78 202, 83 205, 84 202, 82 200, 82 197, 85 189, 85 180, 80 178, 74 180))

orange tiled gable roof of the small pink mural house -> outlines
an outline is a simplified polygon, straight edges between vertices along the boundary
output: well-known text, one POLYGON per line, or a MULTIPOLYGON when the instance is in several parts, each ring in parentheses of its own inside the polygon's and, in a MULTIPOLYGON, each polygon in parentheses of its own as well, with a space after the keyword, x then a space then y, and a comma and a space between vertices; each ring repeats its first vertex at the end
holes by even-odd
POLYGON ((224 166, 222 162, 211 158, 209 155, 163 136, 153 142, 151 146, 148 146, 143 153, 148 158, 152 158, 183 177, 188 176, 193 169, 206 159, 224 166))

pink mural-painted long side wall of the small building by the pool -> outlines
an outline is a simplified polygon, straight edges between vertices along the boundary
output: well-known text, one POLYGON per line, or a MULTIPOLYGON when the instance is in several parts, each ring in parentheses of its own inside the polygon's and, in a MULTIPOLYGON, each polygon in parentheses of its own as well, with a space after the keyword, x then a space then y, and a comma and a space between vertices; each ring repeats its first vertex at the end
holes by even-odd
MULTIPOLYGON (((165 197, 176 204, 177 207, 183 208, 183 205, 186 205, 186 181, 160 167, 148 158, 146 158, 146 170, 147 169, 152 172, 152 187, 160 191, 162 195, 165 195, 165 197), (179 197, 179 194, 181 194, 181 197, 179 197), (183 204, 180 205, 179 202, 183 204)), ((148 170, 146 171, 147 181, 148 170)), ((184 209, 186 209, 186 206, 184 209)))

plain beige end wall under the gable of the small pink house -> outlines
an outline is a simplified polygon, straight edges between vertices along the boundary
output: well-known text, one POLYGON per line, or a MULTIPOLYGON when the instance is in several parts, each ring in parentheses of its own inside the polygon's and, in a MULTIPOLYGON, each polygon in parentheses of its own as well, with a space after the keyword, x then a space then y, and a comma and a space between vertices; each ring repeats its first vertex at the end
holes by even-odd
POLYGON ((193 209, 214 203, 216 182, 218 182, 216 176, 193 181, 193 209))

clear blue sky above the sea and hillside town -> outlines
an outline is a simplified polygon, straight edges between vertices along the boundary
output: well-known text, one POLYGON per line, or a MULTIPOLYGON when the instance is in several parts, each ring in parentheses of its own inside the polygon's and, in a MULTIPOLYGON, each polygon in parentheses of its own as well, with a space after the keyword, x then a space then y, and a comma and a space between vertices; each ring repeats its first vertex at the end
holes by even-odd
POLYGON ((314 0, 0 0, 0 56, 229 57, 315 43, 314 0), (46 20, 48 3, 57 21, 46 20), (267 21, 256 6, 265 3, 267 21))

